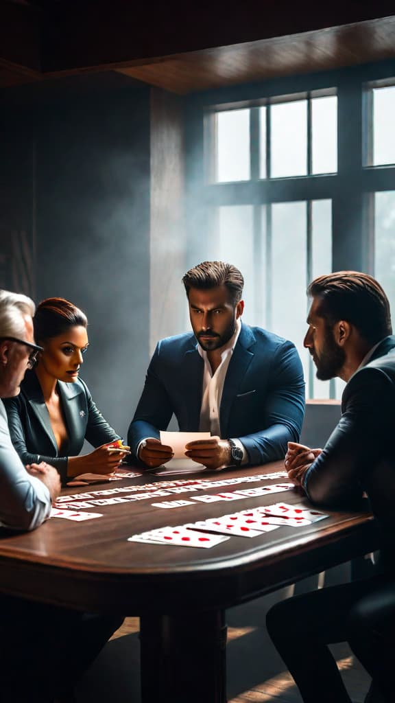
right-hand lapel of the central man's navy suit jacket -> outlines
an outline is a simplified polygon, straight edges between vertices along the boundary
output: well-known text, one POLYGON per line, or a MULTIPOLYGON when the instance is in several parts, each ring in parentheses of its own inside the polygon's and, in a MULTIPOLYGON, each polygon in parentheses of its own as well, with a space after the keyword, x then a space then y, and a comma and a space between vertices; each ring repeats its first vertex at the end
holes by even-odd
POLYGON ((219 425, 221 427, 221 437, 228 437, 228 424, 231 416, 232 404, 235 396, 240 390, 242 381, 247 373, 254 352, 250 347, 255 343, 252 330, 242 324, 238 342, 232 354, 224 382, 224 390, 221 398, 221 408, 219 411, 219 425))

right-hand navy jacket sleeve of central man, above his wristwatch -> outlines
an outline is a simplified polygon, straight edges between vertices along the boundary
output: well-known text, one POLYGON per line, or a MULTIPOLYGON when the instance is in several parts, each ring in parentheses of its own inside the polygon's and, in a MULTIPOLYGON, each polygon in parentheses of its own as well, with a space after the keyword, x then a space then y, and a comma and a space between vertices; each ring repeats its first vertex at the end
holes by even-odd
POLYGON ((270 384, 262 399, 264 429, 238 437, 247 449, 251 464, 282 459, 288 441, 299 441, 304 418, 302 362, 292 342, 280 344, 273 355, 270 384))

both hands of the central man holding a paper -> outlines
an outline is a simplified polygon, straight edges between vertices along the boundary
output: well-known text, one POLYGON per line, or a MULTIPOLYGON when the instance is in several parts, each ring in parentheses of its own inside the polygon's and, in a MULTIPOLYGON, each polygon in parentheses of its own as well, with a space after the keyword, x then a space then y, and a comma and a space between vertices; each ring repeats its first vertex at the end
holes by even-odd
MULTIPOLYGON (((196 439, 186 444, 186 456, 207 469, 219 469, 231 463, 231 446, 226 439, 209 437, 196 439)), ((159 439, 148 438, 140 446, 138 458, 150 468, 157 468, 174 456, 171 446, 161 444, 159 439)))

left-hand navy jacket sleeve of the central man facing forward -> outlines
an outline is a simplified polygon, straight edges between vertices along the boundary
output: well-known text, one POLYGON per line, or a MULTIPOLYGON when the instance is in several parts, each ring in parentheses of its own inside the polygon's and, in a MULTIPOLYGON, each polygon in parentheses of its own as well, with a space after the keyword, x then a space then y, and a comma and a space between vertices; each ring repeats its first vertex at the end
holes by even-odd
POLYGON ((148 366, 143 393, 129 426, 127 441, 134 458, 137 458, 136 451, 141 440, 145 437, 159 439, 159 430, 166 430, 173 414, 171 400, 160 378, 160 352, 161 342, 157 344, 148 366))

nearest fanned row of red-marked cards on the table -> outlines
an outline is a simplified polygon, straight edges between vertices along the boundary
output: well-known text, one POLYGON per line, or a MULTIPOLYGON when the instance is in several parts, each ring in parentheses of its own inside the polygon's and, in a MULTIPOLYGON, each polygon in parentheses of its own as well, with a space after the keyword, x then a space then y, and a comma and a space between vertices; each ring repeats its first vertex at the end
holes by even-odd
POLYGON ((302 527, 323 520, 328 515, 310 510, 304 505, 275 503, 262 505, 252 510, 241 510, 231 515, 197 520, 176 527, 160 527, 129 537, 129 542, 143 544, 172 544, 175 546, 210 548, 229 539, 230 536, 258 537, 281 525, 302 527), (215 534, 211 534, 214 532, 215 534))

